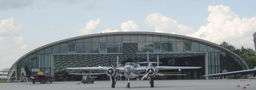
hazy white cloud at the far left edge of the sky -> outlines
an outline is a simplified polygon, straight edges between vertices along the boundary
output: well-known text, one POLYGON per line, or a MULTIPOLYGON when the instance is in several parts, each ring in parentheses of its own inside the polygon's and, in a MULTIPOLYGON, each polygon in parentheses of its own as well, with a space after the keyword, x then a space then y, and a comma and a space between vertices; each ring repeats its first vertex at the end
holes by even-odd
POLYGON ((10 67, 20 56, 28 52, 28 46, 20 45, 24 38, 19 36, 19 32, 24 26, 13 23, 13 17, 0 22, 0 69, 10 67))

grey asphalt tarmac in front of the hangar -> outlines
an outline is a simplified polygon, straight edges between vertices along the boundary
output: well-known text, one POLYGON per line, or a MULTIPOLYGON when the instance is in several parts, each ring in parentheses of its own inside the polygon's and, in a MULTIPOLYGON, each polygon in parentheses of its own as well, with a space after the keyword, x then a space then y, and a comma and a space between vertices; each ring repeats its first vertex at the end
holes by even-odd
MULTIPOLYGON (((117 85, 115 88, 111 88, 110 81, 95 81, 93 84, 83 84, 77 85, 79 81, 72 82, 53 82, 40 84, 32 82, 11 82, 11 83, 0 83, 1 90, 9 89, 19 89, 19 90, 109 90, 109 89, 127 89, 126 80, 117 80, 117 85)), ((241 89, 242 86, 245 86, 246 89, 256 89, 256 80, 255 79, 218 79, 218 80, 154 80, 154 88, 150 88, 148 80, 137 81, 130 80, 130 89, 173 89, 173 90, 236 90, 241 89), (246 85, 250 86, 246 86, 246 85), (241 87, 237 87, 237 86, 241 87)))

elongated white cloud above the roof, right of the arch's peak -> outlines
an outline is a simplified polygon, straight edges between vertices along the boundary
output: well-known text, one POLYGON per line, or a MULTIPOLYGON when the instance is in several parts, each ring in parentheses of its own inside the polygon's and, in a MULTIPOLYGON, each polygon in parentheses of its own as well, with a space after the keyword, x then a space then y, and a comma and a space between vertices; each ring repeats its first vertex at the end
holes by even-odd
POLYGON ((151 13, 144 20, 147 26, 154 26, 155 32, 186 35, 195 32, 192 27, 178 24, 177 20, 163 16, 159 13, 151 13))

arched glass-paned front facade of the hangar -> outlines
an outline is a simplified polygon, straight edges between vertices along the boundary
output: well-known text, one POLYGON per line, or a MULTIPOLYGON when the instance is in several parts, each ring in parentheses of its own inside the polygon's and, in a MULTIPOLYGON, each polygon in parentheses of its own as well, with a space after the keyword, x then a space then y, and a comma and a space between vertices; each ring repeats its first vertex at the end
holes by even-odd
POLYGON ((159 71, 187 74, 166 77, 167 79, 202 79, 201 76, 205 74, 248 69, 239 56, 217 44, 192 37, 154 32, 106 33, 57 41, 29 52, 14 65, 17 65, 18 70, 28 65, 30 69, 40 68, 42 72, 51 70, 52 74, 59 71, 80 73, 66 68, 116 65, 117 56, 120 62, 129 58, 133 58, 133 62, 145 62, 147 51, 150 53, 150 61, 156 61, 159 56, 160 62, 163 62, 160 65, 163 66, 202 67, 181 72, 159 71))

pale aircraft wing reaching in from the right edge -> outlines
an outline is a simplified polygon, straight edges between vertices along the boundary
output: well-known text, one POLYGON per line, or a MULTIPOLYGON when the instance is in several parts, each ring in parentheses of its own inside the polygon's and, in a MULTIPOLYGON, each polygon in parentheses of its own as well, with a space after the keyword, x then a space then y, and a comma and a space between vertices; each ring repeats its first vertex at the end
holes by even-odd
MULTIPOLYGON (((256 69, 242 70, 242 71, 232 71, 232 72, 228 72, 228 73, 209 74, 209 75, 205 75, 203 77, 232 76, 232 75, 240 76, 240 75, 251 74, 251 73, 256 74, 256 69)), ((254 74, 254 76, 255 76, 255 74, 254 74)))

